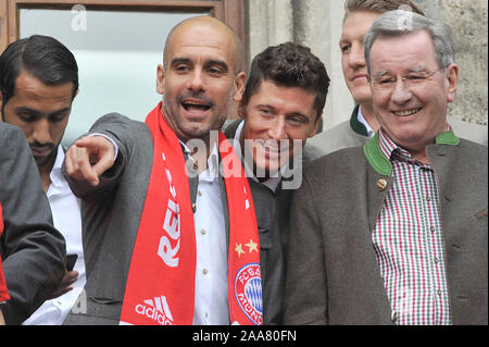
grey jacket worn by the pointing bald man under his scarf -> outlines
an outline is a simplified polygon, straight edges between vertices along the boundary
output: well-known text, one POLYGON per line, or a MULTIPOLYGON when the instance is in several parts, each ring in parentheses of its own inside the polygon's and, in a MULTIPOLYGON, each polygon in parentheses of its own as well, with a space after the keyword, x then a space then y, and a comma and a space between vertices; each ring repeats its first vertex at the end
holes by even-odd
MULTIPOLYGON (((64 324, 118 324, 152 169, 153 139, 146 123, 116 113, 99 119, 90 132, 110 136, 118 156, 99 187, 65 174, 73 193, 82 198, 87 283, 80 299, 86 300, 87 310, 71 312, 64 324)), ((226 190, 224 181, 220 182, 228 235, 226 190)))

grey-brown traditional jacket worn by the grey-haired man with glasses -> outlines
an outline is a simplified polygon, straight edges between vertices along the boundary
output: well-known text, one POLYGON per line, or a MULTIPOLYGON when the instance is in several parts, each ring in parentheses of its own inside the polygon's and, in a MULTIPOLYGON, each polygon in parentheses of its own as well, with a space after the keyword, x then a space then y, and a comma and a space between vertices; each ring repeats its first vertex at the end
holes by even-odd
MULTIPOLYGON (((304 169, 291 206, 288 324, 392 324, 371 237, 392 177, 374 140, 304 169), (388 182, 385 190, 378 179, 388 182)), ((439 137, 428 156, 438 178, 452 323, 487 324, 487 147, 439 137)))

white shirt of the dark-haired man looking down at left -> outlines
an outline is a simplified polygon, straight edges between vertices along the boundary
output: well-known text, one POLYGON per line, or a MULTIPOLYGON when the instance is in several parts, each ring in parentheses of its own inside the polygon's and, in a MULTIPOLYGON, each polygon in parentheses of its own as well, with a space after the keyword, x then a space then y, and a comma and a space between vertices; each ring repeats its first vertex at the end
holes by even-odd
POLYGON ((67 182, 61 173, 64 160, 63 148, 58 146, 58 154, 50 173, 51 184, 47 196, 51 206, 54 227, 66 240, 66 255, 77 255, 73 270, 78 271, 78 280, 68 293, 47 300, 23 324, 25 325, 58 325, 61 324, 75 305, 82 293, 85 277, 85 260, 82 244, 82 215, 79 200, 73 195, 67 182))

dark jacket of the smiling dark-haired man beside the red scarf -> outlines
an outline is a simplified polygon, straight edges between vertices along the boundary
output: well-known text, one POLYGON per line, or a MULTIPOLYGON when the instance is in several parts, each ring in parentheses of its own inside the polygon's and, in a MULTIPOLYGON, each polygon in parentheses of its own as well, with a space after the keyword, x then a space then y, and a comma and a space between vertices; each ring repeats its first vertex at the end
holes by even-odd
MULTIPOLYGON (((242 120, 228 122, 225 134, 234 139, 242 120)), ((318 149, 308 147, 303 162, 323 154, 318 149)), ((283 189, 283 182, 277 190, 272 191, 266 186, 248 178, 253 196, 256 222, 260 234, 260 262, 262 267, 263 285, 263 323, 283 323, 283 298, 285 287, 285 258, 289 237, 289 202, 292 190, 283 189)))

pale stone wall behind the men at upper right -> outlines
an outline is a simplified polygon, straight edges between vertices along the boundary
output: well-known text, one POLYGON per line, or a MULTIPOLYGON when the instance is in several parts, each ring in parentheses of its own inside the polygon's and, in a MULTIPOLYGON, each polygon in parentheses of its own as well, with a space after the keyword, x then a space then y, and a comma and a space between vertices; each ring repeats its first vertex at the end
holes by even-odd
MULTIPOLYGON (((415 0, 429 17, 442 20, 454 33, 461 71, 459 94, 450 114, 487 125, 488 2, 486 0, 415 0)), ((249 55, 271 45, 294 41, 311 47, 331 78, 324 127, 349 119, 353 100, 341 72, 338 42, 343 0, 248 0, 249 55)))

